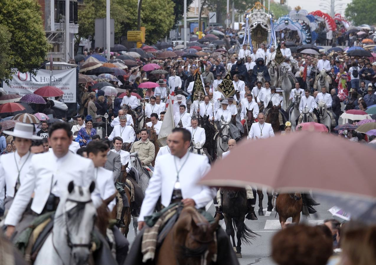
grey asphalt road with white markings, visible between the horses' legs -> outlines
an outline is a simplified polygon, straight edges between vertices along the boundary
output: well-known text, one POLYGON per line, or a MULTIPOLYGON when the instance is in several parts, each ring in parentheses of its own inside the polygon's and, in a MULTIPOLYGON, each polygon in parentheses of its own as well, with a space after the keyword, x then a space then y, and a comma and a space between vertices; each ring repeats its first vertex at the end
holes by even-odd
MULTIPOLYGON (((301 223, 309 223, 312 225, 321 224, 323 220, 328 218, 333 218, 332 214, 328 212, 328 210, 334 206, 328 202, 320 202, 321 205, 315 206, 314 208, 317 210, 316 214, 311 214, 311 218, 300 218, 301 223)), ((264 201, 263 205, 267 205, 267 194, 264 191, 264 201)), ((265 206, 266 207, 266 206, 265 206)), ((214 215, 215 208, 214 206, 209 203, 206 207, 208 212, 214 215)), ((258 233, 260 236, 256 238, 251 245, 242 244, 242 258, 238 259, 241 265, 250 265, 250 264, 259 264, 259 265, 275 265, 276 263, 273 262, 271 258, 271 239, 273 238, 274 233, 280 230, 280 224, 278 220, 278 215, 273 212, 267 212, 266 208, 264 209, 264 216, 258 216, 258 220, 245 221, 246 225, 252 229, 254 232, 258 233)), ((255 209, 256 213, 258 211, 258 206, 255 209)), ((291 218, 288 219, 291 221, 291 218)), ((224 221, 221 220, 220 224, 223 229, 226 229, 224 221)), ((132 226, 132 223, 131 225, 132 226)), ((128 241, 132 244, 135 238, 134 229, 130 227, 128 233, 128 241)), ((236 239, 235 239, 236 241, 236 239)))

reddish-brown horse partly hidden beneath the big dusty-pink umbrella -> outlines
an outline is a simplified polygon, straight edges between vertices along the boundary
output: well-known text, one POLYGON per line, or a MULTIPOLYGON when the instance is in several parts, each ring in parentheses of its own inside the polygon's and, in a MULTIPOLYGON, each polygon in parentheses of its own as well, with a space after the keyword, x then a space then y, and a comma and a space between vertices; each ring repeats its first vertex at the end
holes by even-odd
POLYGON ((286 222, 287 218, 292 217, 293 223, 299 223, 300 212, 302 211, 302 194, 280 193, 276 200, 276 211, 279 215, 279 222, 286 222))

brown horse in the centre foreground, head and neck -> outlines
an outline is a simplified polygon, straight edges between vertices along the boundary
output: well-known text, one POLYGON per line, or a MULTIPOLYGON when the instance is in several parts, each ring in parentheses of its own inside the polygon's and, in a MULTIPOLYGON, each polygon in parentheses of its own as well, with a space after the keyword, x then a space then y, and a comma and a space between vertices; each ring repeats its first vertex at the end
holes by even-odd
POLYGON ((184 207, 156 253, 156 264, 211 264, 217 253, 218 221, 209 224, 194 207, 184 207))

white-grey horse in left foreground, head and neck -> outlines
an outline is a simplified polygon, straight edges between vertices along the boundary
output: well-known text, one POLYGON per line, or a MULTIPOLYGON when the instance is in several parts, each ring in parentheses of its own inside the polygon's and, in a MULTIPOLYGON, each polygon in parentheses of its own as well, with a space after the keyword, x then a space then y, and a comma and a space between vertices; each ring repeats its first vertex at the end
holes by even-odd
POLYGON ((91 249, 91 232, 97 210, 91 201, 95 183, 89 187, 68 184, 68 193, 60 197, 52 233, 36 256, 34 265, 86 264, 91 249))

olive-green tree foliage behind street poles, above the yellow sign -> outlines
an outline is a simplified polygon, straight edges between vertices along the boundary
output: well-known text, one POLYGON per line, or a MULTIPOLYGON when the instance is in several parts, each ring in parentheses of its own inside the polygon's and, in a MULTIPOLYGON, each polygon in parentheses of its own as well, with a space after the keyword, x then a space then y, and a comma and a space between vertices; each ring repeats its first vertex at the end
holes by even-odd
MULTIPOLYGON (((190 0, 189 0, 190 1, 190 0)), ((85 8, 79 9, 80 38, 94 40, 95 19, 106 17, 106 1, 85 0, 85 8)), ((115 21, 115 43, 127 30, 137 29, 137 0, 111 0, 110 17, 115 21)), ((172 0, 143 0, 141 6, 141 26, 146 27, 146 42, 155 43, 165 36, 175 21, 172 0), (171 14, 168 16, 167 14, 171 14)))

